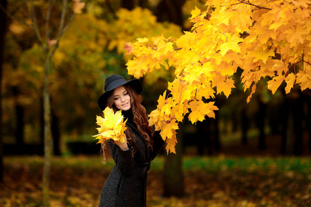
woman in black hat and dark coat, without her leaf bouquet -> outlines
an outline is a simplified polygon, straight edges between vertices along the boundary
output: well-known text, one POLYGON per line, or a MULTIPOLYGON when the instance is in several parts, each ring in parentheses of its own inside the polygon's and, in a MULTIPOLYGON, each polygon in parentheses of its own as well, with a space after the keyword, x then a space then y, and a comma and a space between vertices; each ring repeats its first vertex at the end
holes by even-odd
POLYGON ((164 141, 148 125, 138 79, 126 81, 120 75, 111 75, 104 90, 98 105, 102 110, 107 106, 122 110, 127 129, 126 142, 109 140, 102 144, 104 161, 113 157, 115 166, 102 188, 99 206, 146 206, 147 171, 164 141))

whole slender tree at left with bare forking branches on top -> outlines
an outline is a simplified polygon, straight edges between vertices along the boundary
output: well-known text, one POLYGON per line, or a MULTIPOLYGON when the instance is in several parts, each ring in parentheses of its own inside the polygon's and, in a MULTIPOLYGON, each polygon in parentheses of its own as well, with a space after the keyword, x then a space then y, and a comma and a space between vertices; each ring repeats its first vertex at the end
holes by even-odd
POLYGON ((44 206, 50 206, 49 204, 49 177, 50 177, 50 161, 51 161, 51 132, 50 132, 50 93, 49 93, 49 74, 51 69, 51 58, 55 54, 55 50, 59 45, 59 40, 64 34, 64 32, 70 26, 71 21, 75 17, 75 14, 81 13, 82 8, 84 8, 84 3, 80 3, 78 0, 73 1, 73 12, 70 19, 66 21, 67 11, 67 1, 64 0, 62 3, 62 17, 60 19, 59 28, 55 37, 50 28, 50 15, 53 6, 55 6, 54 1, 48 1, 46 9, 46 22, 45 22, 45 34, 42 36, 39 30, 37 14, 35 12, 35 6, 33 1, 26 1, 26 6, 28 8, 28 14, 30 21, 32 23, 32 28, 37 36, 41 50, 44 53, 44 174, 43 174, 43 201, 44 206))

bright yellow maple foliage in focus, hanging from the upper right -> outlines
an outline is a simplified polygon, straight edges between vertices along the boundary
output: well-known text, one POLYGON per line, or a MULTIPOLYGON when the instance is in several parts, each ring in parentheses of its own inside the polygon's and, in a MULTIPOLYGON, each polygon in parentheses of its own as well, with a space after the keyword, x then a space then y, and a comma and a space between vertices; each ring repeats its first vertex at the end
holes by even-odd
POLYGON ((250 91, 247 102, 265 77, 270 77, 272 93, 283 82, 286 93, 294 85, 311 87, 310 1, 207 1, 207 6, 191 12, 192 30, 179 39, 154 37, 131 44, 129 74, 142 77, 161 66, 176 68, 168 92, 149 115, 167 152, 175 152, 178 122, 186 114, 193 124, 215 116, 214 101, 204 100, 220 93, 229 97, 238 67, 244 91, 250 91))

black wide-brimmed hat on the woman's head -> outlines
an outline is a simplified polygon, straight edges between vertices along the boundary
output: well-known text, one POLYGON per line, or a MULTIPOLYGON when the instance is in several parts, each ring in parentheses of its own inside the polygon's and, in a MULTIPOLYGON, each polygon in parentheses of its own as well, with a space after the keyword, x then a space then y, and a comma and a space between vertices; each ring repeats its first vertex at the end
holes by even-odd
POLYGON ((98 106, 100 106, 100 109, 104 110, 106 107, 107 97, 109 95, 109 92, 112 92, 115 90, 115 88, 118 88, 120 86, 124 86, 125 84, 128 84, 132 88, 140 94, 142 92, 142 83, 140 83, 140 80, 138 79, 131 79, 129 81, 126 81, 124 77, 120 75, 111 75, 106 78, 105 84, 104 84, 104 90, 105 92, 98 98, 98 106))

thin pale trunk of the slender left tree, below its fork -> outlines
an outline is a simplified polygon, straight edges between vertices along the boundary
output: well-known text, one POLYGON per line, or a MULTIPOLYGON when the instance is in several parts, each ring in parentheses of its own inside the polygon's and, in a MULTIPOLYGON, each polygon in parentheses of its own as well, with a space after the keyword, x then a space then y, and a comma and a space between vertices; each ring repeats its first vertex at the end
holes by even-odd
MULTIPOLYGON (((47 53, 47 52, 46 52, 47 53)), ((52 136, 50 132, 50 95, 48 92, 48 75, 50 71, 50 57, 46 54, 45 77, 44 77, 44 173, 43 173, 43 201, 44 206, 50 206, 50 195, 48 193, 50 185, 50 162, 52 136)))

